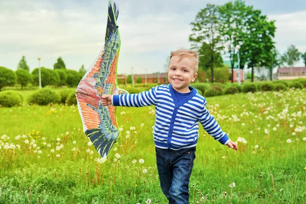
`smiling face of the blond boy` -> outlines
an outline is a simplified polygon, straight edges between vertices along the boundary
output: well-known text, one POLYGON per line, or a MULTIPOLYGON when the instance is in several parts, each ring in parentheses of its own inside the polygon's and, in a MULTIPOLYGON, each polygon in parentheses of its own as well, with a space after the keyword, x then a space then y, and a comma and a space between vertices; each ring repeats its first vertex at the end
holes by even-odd
POLYGON ((172 88, 180 93, 188 93, 189 84, 197 77, 194 59, 173 56, 169 63, 168 81, 172 88))

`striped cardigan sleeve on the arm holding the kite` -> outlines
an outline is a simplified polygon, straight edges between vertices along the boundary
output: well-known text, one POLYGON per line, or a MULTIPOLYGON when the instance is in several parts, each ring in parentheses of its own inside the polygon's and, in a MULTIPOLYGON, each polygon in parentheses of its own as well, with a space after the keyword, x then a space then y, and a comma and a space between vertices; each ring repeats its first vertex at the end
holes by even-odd
POLYGON ((126 107, 155 105, 157 98, 156 89, 157 87, 152 87, 149 91, 143 91, 138 94, 112 95, 112 105, 126 107))

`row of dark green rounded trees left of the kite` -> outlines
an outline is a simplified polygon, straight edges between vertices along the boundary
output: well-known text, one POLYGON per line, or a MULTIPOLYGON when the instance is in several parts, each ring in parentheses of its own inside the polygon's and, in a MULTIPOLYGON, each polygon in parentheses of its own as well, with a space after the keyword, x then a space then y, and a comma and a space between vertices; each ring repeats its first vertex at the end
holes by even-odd
MULTIPOLYGON (((40 67, 40 71, 42 87, 47 85, 76 87, 86 73, 84 65, 79 71, 67 69, 61 57, 58 58, 53 69, 40 67)), ((17 83, 21 85, 21 89, 30 83, 34 86, 39 85, 39 68, 35 68, 30 73, 30 67, 24 56, 19 61, 16 71, 0 66, 0 91, 5 86, 14 86, 17 83)))

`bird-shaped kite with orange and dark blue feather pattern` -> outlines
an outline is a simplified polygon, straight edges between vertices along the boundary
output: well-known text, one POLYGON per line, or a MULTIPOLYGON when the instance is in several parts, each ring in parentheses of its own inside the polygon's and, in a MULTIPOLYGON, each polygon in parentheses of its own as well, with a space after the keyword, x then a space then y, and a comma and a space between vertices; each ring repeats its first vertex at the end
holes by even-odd
POLYGON ((117 62, 120 49, 120 36, 117 25, 118 5, 109 1, 108 21, 104 48, 93 61, 77 90, 79 113, 85 135, 92 142, 102 161, 119 137, 116 107, 103 106, 101 95, 127 94, 117 86, 117 62))

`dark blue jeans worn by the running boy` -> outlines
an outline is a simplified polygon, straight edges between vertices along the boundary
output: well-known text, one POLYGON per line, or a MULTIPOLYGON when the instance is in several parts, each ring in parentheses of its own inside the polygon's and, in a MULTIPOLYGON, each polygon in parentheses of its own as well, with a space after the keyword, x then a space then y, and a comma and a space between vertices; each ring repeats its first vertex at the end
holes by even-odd
POLYGON ((180 150, 155 147, 161 188, 170 204, 188 204, 195 150, 195 147, 180 150))

